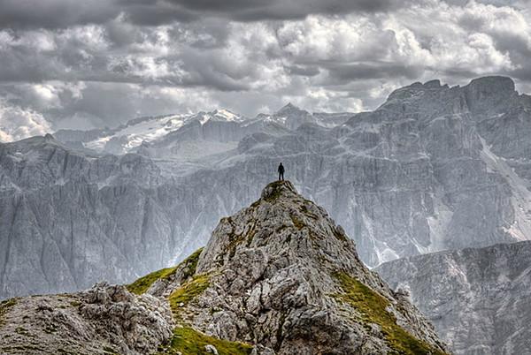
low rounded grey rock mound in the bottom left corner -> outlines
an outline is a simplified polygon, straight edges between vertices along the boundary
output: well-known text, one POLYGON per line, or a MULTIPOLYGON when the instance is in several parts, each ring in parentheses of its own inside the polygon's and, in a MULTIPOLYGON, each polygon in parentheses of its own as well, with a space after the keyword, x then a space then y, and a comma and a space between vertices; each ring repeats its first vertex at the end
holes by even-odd
POLYGON ((125 286, 99 283, 79 293, 12 298, 2 307, 3 354, 148 354, 173 335, 167 303, 125 286))

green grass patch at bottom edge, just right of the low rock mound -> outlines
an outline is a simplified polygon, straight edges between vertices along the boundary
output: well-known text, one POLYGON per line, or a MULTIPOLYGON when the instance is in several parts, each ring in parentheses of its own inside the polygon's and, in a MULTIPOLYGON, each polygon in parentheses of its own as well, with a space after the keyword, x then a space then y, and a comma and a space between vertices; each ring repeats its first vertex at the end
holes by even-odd
POLYGON ((213 345, 219 355, 249 355, 252 351, 250 344, 229 342, 213 336, 207 336, 190 327, 176 328, 169 344, 159 348, 159 355, 182 355, 211 354, 204 349, 205 345, 213 345))

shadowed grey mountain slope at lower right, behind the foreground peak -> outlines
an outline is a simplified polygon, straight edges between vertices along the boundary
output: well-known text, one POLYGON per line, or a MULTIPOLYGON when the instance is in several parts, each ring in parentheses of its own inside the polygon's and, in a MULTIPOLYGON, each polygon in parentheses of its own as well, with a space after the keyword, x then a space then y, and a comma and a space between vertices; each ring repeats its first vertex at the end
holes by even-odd
POLYGON ((456 354, 531 352, 531 242, 390 261, 376 271, 456 354))

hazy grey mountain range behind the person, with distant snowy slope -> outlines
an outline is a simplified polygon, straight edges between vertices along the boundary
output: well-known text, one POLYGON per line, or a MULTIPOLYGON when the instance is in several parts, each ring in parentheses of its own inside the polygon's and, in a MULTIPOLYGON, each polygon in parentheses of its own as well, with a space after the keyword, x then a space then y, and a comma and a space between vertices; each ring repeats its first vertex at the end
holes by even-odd
POLYGON ((279 162, 371 267, 531 236, 531 99, 511 79, 415 83, 344 124, 350 115, 293 105, 201 115, 121 127, 128 154, 98 153, 95 132, 59 134, 68 147, 52 137, 0 145, 0 297, 126 282, 180 260, 279 162))

